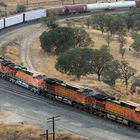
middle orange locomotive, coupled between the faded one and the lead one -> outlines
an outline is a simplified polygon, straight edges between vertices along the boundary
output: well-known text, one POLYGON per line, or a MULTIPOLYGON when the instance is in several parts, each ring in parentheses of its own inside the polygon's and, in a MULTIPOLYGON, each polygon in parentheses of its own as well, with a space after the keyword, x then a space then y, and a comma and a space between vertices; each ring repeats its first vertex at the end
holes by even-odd
POLYGON ((85 106, 90 105, 91 96, 94 94, 93 90, 85 87, 75 86, 64 83, 55 78, 46 79, 47 91, 52 92, 57 98, 67 100, 74 106, 84 109, 85 106))

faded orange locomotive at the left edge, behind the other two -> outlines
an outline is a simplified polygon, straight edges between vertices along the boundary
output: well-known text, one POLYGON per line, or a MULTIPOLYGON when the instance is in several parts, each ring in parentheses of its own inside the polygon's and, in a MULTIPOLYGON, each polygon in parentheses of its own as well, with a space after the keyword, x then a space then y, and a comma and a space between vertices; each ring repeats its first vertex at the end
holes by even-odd
POLYGON ((0 71, 2 76, 7 80, 35 92, 46 86, 46 82, 44 81, 44 78, 46 78, 45 75, 30 72, 27 68, 15 65, 2 57, 0 57, 0 71))

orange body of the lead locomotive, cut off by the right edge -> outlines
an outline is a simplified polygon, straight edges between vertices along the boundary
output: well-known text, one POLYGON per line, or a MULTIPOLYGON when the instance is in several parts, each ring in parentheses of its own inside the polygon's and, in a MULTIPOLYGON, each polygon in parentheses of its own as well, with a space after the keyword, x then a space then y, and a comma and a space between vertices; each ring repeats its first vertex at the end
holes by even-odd
POLYGON ((108 100, 105 109, 110 114, 127 120, 128 124, 133 127, 140 125, 140 104, 108 100))

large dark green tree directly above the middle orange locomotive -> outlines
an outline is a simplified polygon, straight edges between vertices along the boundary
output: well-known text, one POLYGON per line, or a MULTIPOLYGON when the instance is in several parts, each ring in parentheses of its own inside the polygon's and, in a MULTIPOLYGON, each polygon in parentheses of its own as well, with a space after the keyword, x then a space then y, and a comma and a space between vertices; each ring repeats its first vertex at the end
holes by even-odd
POLYGON ((75 48, 57 58, 56 69, 62 73, 75 75, 78 80, 91 71, 92 49, 75 48))

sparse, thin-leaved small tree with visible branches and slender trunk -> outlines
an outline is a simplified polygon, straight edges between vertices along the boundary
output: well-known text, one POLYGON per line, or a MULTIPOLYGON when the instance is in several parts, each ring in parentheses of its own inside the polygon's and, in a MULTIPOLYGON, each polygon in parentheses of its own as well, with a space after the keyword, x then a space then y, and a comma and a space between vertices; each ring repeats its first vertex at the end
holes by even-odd
POLYGON ((118 69, 121 74, 121 78, 124 79, 126 88, 128 87, 129 79, 135 75, 136 70, 132 68, 127 61, 120 61, 118 69))

